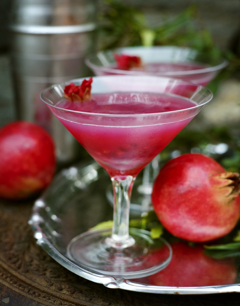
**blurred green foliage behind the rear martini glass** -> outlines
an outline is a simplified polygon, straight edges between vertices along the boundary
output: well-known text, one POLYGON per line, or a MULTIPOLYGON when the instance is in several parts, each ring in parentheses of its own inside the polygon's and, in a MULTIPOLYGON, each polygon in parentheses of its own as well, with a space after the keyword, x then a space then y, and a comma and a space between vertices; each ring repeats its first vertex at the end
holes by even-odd
POLYGON ((160 26, 150 28, 140 10, 118 0, 104 0, 104 3, 104 11, 99 14, 100 50, 137 45, 174 45, 198 50, 197 60, 210 65, 216 65, 221 57, 225 57, 229 65, 209 84, 213 92, 216 92, 220 80, 240 71, 240 58, 230 51, 219 50, 210 31, 199 27, 195 5, 171 20, 165 18, 160 26))

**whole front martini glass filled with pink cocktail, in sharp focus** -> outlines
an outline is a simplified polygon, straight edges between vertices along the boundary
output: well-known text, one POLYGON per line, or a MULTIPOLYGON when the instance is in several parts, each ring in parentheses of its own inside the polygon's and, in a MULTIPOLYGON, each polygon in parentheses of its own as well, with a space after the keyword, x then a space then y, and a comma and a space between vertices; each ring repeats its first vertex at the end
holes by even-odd
MULTIPOLYGON (((82 81, 71 82, 80 85, 82 81)), ((129 234, 133 182, 211 100, 212 93, 200 85, 165 77, 97 76, 93 77, 93 101, 71 103, 64 101, 65 85, 53 85, 41 98, 108 172, 114 192, 112 231, 82 233, 68 244, 68 256, 81 267, 116 277, 154 274, 169 263, 171 249, 164 240, 151 239, 147 231, 131 229, 129 234), (167 108, 155 112, 159 105, 167 108), (91 111, 77 110, 85 106, 91 111), (157 249, 163 250, 158 258, 152 256, 157 249)))

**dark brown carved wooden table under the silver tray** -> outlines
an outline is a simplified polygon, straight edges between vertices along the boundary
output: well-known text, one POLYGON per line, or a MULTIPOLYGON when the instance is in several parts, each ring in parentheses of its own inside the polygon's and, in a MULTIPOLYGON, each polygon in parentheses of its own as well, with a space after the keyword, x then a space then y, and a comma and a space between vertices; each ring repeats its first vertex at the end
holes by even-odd
POLYGON ((0 305, 239 306, 238 293, 161 295, 108 289, 81 278, 49 257, 27 221, 32 203, 0 200, 0 305))

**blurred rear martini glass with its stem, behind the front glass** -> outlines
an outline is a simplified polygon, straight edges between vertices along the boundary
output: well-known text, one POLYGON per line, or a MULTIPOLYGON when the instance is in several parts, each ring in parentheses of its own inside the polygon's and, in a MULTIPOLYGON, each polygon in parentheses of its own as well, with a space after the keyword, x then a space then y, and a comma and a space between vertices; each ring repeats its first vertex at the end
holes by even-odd
MULTIPOLYGON (((224 58, 209 59, 206 54, 198 50, 177 46, 153 47, 122 47, 113 50, 100 51, 89 55, 86 60, 97 76, 101 75, 151 75, 166 76, 206 86, 227 66, 224 58), (142 68, 129 70, 118 69, 114 54, 139 56, 143 62, 142 68)), ((131 212, 134 215, 145 214, 152 210, 151 193, 153 182, 159 172, 160 155, 147 164, 143 170, 142 181, 137 180, 134 190, 134 199, 131 203, 131 212), (137 185, 137 186, 136 186, 137 185)), ((106 191, 109 202, 113 205, 111 186, 106 191)))

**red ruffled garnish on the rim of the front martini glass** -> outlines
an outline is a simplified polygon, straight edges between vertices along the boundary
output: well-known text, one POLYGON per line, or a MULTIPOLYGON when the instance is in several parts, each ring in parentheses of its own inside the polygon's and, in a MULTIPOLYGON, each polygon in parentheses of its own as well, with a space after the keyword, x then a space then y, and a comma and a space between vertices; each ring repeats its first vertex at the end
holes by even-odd
POLYGON ((89 80, 83 80, 80 86, 75 85, 74 83, 70 83, 64 88, 64 98, 71 102, 75 101, 85 101, 91 100, 91 84, 93 82, 93 78, 90 77, 89 80))

